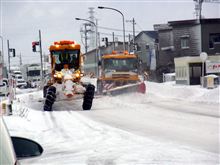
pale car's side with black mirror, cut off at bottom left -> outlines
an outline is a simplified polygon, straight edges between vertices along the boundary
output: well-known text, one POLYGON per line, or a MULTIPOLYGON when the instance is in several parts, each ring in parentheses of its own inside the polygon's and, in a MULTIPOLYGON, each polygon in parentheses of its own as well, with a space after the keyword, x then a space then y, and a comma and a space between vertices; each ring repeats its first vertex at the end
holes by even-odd
POLYGON ((0 164, 17 165, 19 159, 40 156, 40 144, 22 137, 10 137, 3 117, 0 116, 0 164))

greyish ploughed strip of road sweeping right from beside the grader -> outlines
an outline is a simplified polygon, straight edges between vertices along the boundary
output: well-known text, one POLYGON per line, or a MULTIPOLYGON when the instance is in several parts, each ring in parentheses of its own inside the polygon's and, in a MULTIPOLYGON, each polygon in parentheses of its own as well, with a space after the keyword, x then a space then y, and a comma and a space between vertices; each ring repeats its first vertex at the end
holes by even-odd
MULTIPOLYGON (((140 98, 141 96, 136 94, 133 97, 140 98)), ((97 107, 91 113, 79 113, 95 121, 157 141, 176 142, 219 153, 217 131, 219 114, 216 111, 218 105, 204 103, 198 105, 198 103, 178 100, 137 103, 135 100, 122 100, 121 96, 120 98, 103 98, 97 102, 105 102, 108 108, 97 107)))

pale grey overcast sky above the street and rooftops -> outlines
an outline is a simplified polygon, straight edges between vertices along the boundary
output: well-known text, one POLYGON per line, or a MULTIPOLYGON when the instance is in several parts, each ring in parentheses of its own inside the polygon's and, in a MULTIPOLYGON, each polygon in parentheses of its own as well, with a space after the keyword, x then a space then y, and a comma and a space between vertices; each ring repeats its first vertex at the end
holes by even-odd
MULTIPOLYGON (((49 54, 48 47, 54 41, 75 40, 81 44, 80 27, 82 21, 75 17, 88 19, 88 8, 94 7, 95 17, 101 27, 122 29, 122 17, 112 10, 100 10, 98 6, 112 7, 120 10, 125 20, 136 21, 136 31, 153 30, 154 24, 167 21, 194 19, 195 4, 193 0, 0 0, 1 31, 4 38, 5 62, 7 62, 7 39, 10 47, 22 54, 23 63, 40 62, 39 53, 33 53, 31 43, 38 40, 38 31, 42 33, 43 52, 49 54)), ((202 15, 205 18, 220 18, 219 3, 203 3, 202 15)), ((131 23, 125 23, 128 31, 131 23)), ((99 29, 111 34, 113 30, 99 29)), ((122 35, 122 31, 115 31, 122 35)), ((104 34, 101 37, 109 37, 104 34)), ((18 57, 11 59, 18 64, 18 57)))

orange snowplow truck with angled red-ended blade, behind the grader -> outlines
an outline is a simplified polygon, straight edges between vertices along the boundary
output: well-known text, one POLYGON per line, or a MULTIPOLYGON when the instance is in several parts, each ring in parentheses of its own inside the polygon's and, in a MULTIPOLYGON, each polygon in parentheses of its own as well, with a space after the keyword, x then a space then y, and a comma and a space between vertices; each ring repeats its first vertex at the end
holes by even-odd
POLYGON ((112 54, 103 55, 99 65, 101 67, 101 75, 97 80, 99 94, 145 93, 145 83, 139 76, 137 55, 113 51, 112 54))

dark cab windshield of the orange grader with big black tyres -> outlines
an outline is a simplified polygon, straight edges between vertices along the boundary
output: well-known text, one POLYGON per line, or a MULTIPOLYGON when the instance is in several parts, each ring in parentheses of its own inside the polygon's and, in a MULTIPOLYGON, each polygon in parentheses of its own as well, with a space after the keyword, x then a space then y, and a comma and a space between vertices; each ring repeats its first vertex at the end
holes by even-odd
POLYGON ((52 51, 55 59, 55 70, 63 69, 64 64, 69 64, 69 69, 79 68, 79 50, 59 50, 52 51))

